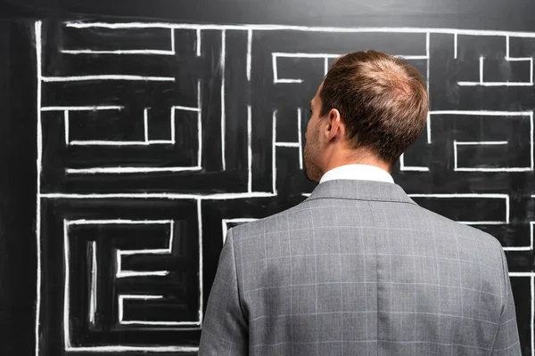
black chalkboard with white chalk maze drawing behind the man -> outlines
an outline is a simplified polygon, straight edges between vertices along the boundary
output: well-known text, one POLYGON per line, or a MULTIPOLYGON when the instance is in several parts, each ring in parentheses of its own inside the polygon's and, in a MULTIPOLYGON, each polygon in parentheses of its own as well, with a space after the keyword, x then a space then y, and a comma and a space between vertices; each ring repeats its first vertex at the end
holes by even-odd
POLYGON ((0 7, 2 354, 195 354, 226 231, 314 189, 308 102, 370 48, 430 93, 394 179, 499 239, 534 353, 533 4, 109 3, 0 7))

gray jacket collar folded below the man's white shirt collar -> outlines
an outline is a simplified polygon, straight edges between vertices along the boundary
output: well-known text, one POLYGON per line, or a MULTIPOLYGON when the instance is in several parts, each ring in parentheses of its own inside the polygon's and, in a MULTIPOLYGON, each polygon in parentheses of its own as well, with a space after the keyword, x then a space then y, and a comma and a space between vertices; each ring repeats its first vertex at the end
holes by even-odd
POLYGON ((362 180, 322 182, 317 185, 307 200, 321 198, 376 200, 416 204, 398 184, 362 180))

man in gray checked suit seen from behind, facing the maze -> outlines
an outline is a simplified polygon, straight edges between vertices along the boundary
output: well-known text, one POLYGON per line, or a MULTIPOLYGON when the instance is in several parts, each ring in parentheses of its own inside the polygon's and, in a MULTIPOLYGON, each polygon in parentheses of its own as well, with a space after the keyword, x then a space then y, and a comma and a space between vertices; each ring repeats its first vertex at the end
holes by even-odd
POLYGON ((200 355, 519 355, 498 240, 407 197, 391 167, 422 132, 424 79, 367 51, 310 103, 299 206, 228 231, 200 355))

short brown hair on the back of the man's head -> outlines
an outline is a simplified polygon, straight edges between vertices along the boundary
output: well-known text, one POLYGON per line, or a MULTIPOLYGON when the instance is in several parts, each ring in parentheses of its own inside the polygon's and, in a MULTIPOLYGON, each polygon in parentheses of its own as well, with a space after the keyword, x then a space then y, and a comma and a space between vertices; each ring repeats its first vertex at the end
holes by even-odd
POLYGON ((420 72, 377 51, 339 57, 325 76, 319 97, 321 117, 338 109, 353 147, 366 147, 391 165, 421 134, 429 107, 420 72))

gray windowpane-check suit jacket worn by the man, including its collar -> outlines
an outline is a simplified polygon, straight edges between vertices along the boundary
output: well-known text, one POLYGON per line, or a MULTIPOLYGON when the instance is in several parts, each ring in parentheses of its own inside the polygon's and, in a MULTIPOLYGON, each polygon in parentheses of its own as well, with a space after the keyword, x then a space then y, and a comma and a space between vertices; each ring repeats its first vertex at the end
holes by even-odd
POLYGON ((519 355, 497 239, 386 182, 228 232, 200 355, 519 355))

